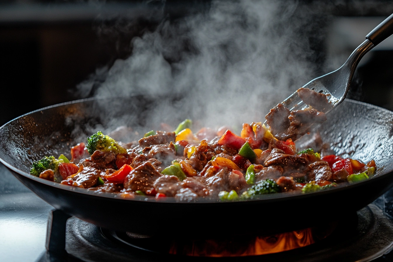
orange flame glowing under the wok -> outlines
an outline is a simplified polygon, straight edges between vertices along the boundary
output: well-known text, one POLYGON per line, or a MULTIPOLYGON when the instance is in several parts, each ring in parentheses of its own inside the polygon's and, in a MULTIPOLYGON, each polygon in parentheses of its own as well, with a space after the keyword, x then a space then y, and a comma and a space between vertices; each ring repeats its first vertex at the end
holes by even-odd
POLYGON ((301 229, 270 236, 238 236, 227 239, 209 240, 174 240, 169 249, 170 254, 195 257, 244 257, 278 253, 308 246, 327 237, 333 229, 324 230, 315 237, 314 228, 301 229))

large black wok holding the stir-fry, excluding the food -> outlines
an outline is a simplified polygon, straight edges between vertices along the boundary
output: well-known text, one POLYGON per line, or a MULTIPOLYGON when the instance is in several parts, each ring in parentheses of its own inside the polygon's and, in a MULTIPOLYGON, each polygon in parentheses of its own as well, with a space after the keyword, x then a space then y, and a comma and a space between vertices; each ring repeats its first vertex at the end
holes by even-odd
MULTIPOLYGON (((349 99, 328 115, 328 121, 320 126, 320 134, 336 154, 364 161, 375 159, 375 176, 361 183, 311 194, 263 195, 245 202, 221 203, 201 198, 193 203, 178 203, 173 198, 121 199, 116 194, 97 194, 29 174, 32 161, 47 154, 69 152, 75 143, 85 141, 94 128, 105 130, 110 125, 126 123, 141 126, 141 132, 150 130, 154 110, 168 103, 176 101, 143 96, 116 102, 84 99, 22 115, 0 128, 0 161, 56 209, 107 229, 144 235, 263 234, 321 225, 354 213, 393 184, 393 112, 349 99), (114 106, 104 111, 108 103, 114 106)), ((167 118, 177 121, 188 113, 177 110, 177 115, 167 118)))

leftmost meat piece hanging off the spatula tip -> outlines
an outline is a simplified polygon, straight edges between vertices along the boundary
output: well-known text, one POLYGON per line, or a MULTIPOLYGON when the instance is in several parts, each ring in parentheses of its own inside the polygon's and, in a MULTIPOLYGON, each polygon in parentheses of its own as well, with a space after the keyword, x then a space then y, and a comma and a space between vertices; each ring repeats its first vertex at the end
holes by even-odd
POLYGON ((270 109, 270 112, 265 116, 267 124, 270 126, 270 130, 274 137, 281 139, 286 137, 286 131, 289 128, 290 120, 288 119, 290 111, 283 104, 277 104, 274 108, 270 109))

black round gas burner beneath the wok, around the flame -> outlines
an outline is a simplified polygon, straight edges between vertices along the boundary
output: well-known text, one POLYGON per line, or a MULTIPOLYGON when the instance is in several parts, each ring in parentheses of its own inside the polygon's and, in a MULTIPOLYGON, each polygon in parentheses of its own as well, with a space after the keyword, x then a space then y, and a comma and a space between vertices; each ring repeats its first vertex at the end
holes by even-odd
MULTIPOLYGON (((165 258, 171 259, 172 261, 184 261, 184 259, 188 261, 206 259, 215 261, 239 261, 260 260, 261 258, 264 261, 275 262, 288 260, 295 262, 334 260, 370 261, 389 252, 393 247, 392 239, 393 223, 374 204, 368 205, 358 211, 357 214, 353 214, 352 217, 340 218, 338 222, 329 225, 320 225, 319 227, 289 232, 284 235, 276 234, 253 238, 246 236, 238 236, 225 240, 187 240, 186 238, 176 240, 171 239, 169 236, 157 238, 101 229, 77 218, 68 219, 66 227, 68 261, 128 262, 141 260, 157 261, 165 258), (282 252, 265 252, 264 255, 247 253, 251 250, 249 248, 250 243, 254 247, 256 246, 255 243, 261 245, 261 247, 266 247, 266 245, 270 245, 270 247, 285 246, 283 245, 285 242, 282 242, 282 239, 288 236, 288 239, 291 239, 291 241, 294 240, 293 236, 299 237, 301 241, 296 242, 298 246, 285 244, 291 248, 270 249, 270 251, 282 252), (256 241, 257 239, 262 239, 263 241, 258 242, 256 241), (212 243, 215 245, 214 252, 212 251, 213 248, 209 247, 212 243), (237 245, 243 251, 240 254, 241 257, 232 256, 233 254, 239 255, 239 247, 238 249, 234 249, 237 245), (194 251, 190 252, 193 247, 194 251), (209 248, 201 249, 202 247, 209 248), (229 251, 227 250, 225 253, 222 251, 224 249, 228 249, 229 251), (196 250, 198 250, 197 253, 195 252, 196 250), (210 253, 207 250, 210 250, 210 253), (185 255, 189 255, 189 257, 185 255), (222 257, 222 255, 228 257, 222 257)), ((254 248, 254 250, 257 249, 254 248)), ((261 251, 262 249, 260 248, 258 250, 261 251)), ((263 250, 266 251, 268 249, 263 250)), ((48 252, 40 261, 53 261, 53 255, 48 252)))

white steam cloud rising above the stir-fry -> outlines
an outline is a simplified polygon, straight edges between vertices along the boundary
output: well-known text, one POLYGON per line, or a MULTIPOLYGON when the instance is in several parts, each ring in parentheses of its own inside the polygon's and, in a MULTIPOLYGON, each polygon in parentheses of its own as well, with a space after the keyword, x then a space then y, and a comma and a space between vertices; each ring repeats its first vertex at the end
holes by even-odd
POLYGON ((182 97, 158 106, 153 122, 171 121, 179 111, 211 127, 263 122, 272 106, 318 76, 310 36, 323 39, 321 8, 297 1, 213 1, 208 11, 164 19, 133 38, 130 57, 98 69, 77 91, 81 97, 182 97))

